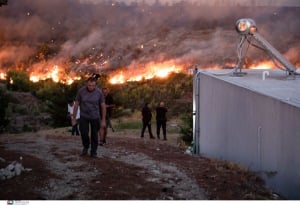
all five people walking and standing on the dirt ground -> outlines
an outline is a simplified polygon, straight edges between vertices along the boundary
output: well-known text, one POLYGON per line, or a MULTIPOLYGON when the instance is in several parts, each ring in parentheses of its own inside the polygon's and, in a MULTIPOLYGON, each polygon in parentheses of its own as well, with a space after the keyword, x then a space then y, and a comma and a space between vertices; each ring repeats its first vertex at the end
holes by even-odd
MULTIPOLYGON (((112 128, 110 117, 114 106, 113 98, 109 95, 108 88, 103 88, 101 91, 97 86, 97 78, 94 76, 88 78, 86 85, 79 89, 75 101, 68 103, 68 112, 72 122, 72 135, 79 135, 79 131, 81 135, 83 146, 81 156, 87 155, 90 149, 90 156, 97 158, 98 145, 103 146, 106 144, 107 128, 112 128), (78 129, 79 119, 80 126, 78 129), (98 144, 99 136, 100 143, 98 144)), ((163 139, 167 140, 167 111, 164 102, 160 102, 156 108, 158 139, 160 139, 160 129, 162 128, 163 139)), ((146 128, 148 128, 150 138, 155 138, 151 130, 151 119, 151 109, 148 107, 148 103, 145 103, 142 109, 142 138, 146 128)), ((114 131, 113 128, 112 131, 114 131)))

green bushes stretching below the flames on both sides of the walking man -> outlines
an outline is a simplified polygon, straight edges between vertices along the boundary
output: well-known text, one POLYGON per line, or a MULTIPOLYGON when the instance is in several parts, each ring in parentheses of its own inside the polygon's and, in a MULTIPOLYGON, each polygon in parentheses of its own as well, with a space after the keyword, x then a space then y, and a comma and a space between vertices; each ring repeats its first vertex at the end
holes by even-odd
MULTIPOLYGON (((30 91, 44 102, 44 106, 47 108, 45 111, 51 114, 54 127, 70 125, 67 118, 67 103, 69 100, 75 99, 78 90, 85 85, 86 78, 82 77, 82 80, 75 81, 72 85, 65 85, 50 79, 31 83, 28 76, 21 71, 9 71, 8 77, 13 80, 13 84, 8 86, 9 89, 30 91)), ((168 118, 177 117, 182 113, 190 113, 192 110, 192 77, 190 75, 173 74, 168 79, 143 80, 122 85, 108 85, 107 76, 103 75, 98 80, 98 85, 100 88, 106 86, 110 88, 117 105, 113 117, 140 113, 145 102, 149 102, 154 111, 158 103, 164 101, 169 110, 168 118)), ((24 114, 22 107, 16 109, 14 112, 24 114)), ((37 110, 36 113, 40 111, 37 110)), ((121 126, 134 127, 137 125, 121 126)))

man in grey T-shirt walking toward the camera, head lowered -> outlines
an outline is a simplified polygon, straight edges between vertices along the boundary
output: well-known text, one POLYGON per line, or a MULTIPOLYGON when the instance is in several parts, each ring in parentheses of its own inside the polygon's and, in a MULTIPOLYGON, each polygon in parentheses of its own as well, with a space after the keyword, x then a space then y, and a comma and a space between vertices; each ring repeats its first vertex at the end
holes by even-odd
MULTIPOLYGON (((98 132, 106 126, 106 106, 104 95, 97 87, 97 79, 90 77, 85 86, 79 89, 75 98, 73 118, 75 118, 78 106, 80 106, 80 133, 83 145, 81 156, 88 153, 91 147, 91 157, 97 157, 98 132), (100 122, 101 109, 101 122, 100 122), (91 128, 91 138, 89 138, 89 128, 91 128)), ((104 132, 101 132, 104 133, 104 132)))

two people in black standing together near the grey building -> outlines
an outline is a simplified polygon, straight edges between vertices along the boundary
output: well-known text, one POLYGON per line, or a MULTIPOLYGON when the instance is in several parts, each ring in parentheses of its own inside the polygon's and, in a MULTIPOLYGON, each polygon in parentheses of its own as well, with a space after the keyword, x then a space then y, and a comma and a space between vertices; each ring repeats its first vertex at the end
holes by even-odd
MULTIPOLYGON (((165 107, 165 103, 160 102, 159 105, 156 107, 156 134, 157 134, 157 139, 160 139, 160 130, 162 128, 163 140, 167 140, 167 117, 166 117, 167 112, 168 112, 168 109, 165 107)), ((149 108, 149 103, 145 103, 145 105, 142 109, 143 127, 142 127, 141 138, 144 138, 144 133, 145 133, 146 128, 148 128, 150 138, 151 139, 155 138, 152 134, 151 120, 152 120, 152 111, 149 108)))

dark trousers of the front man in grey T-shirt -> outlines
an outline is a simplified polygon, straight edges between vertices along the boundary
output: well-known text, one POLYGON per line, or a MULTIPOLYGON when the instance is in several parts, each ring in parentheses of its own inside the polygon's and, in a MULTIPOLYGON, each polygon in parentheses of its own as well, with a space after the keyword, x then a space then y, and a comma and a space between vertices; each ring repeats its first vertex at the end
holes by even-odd
POLYGON ((91 154, 97 154, 100 120, 80 118, 79 129, 81 133, 83 148, 89 149, 91 144, 91 154), (91 128, 91 139, 89 138, 89 128, 91 128))

